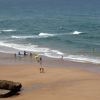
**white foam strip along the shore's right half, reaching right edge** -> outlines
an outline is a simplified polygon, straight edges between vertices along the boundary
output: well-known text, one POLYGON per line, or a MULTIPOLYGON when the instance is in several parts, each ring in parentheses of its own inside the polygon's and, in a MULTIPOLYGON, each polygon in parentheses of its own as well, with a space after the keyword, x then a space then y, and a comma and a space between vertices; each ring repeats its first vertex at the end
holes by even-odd
POLYGON ((100 64, 100 58, 98 57, 88 57, 88 56, 83 56, 83 55, 64 55, 64 53, 57 51, 55 54, 54 52, 52 53, 45 53, 45 56, 50 57, 50 58, 61 58, 63 55, 64 60, 70 60, 74 62, 83 62, 83 63, 94 63, 94 64, 100 64), (59 55, 57 55, 59 54, 59 55))

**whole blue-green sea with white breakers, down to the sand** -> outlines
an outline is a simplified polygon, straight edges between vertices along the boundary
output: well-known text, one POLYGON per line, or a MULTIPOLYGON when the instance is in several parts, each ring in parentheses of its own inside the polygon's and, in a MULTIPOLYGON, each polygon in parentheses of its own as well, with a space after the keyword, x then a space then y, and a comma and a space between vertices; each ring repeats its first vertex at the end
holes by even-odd
POLYGON ((0 52, 100 64, 99 0, 0 0, 0 52))

